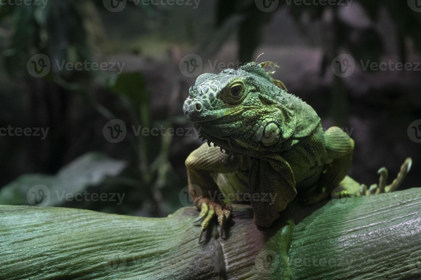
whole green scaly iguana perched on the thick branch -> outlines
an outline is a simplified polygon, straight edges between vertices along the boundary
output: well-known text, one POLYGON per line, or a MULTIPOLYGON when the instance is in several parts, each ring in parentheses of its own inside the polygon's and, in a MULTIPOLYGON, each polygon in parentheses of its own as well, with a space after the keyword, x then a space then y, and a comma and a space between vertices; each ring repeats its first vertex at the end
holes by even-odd
MULTIPOLYGON (((336 126, 323 131, 313 108, 273 79, 274 71, 264 69, 268 65, 277 66, 251 62, 218 75, 205 73, 189 89, 184 115, 208 140, 186 160, 189 191, 205 218, 199 241, 214 215, 222 235, 232 211, 226 198, 234 192, 240 201, 248 194, 254 222, 268 227, 297 191, 309 194, 310 203, 327 198, 351 166, 354 141, 336 126)), ((389 186, 381 168, 379 184, 369 190, 361 185, 359 194, 393 191, 410 165, 408 158, 389 186)))

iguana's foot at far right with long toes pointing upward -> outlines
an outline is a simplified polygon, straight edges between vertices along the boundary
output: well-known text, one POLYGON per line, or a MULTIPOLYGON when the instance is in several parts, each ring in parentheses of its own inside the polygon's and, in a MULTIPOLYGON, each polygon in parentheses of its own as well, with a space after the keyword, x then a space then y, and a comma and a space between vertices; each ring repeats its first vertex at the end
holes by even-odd
POLYGON ((392 191, 397 190, 399 188, 402 181, 405 179, 406 175, 408 174, 409 170, 411 169, 412 159, 408 157, 405 162, 400 167, 400 171, 397 177, 393 180, 390 185, 386 186, 386 179, 387 179, 387 169, 386 167, 381 167, 377 173, 380 175, 378 179, 378 184, 373 184, 367 189, 365 184, 361 184, 360 186, 360 195, 370 195, 370 194, 382 194, 382 193, 389 193, 392 191))

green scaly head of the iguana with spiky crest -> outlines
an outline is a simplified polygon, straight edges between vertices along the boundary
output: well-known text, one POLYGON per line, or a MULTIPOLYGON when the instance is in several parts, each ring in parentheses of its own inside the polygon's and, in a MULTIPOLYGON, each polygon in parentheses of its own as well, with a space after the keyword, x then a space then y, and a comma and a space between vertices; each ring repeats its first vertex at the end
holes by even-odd
POLYGON ((273 71, 264 69, 267 65, 274 63, 251 62, 238 70, 197 77, 183 112, 208 143, 238 153, 274 152, 292 136, 292 114, 301 100, 271 78, 273 71))

